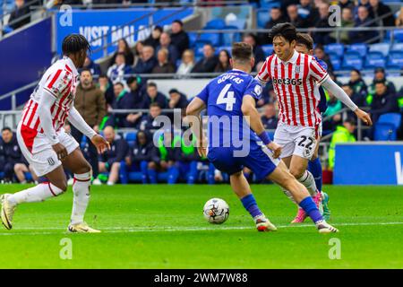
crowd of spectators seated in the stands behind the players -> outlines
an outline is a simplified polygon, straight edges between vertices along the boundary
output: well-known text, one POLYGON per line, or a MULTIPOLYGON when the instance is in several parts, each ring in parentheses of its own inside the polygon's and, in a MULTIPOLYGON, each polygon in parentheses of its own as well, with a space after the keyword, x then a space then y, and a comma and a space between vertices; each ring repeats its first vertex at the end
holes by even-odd
MULTIPOLYGON (((81 4, 81 1, 65 2, 81 4)), ((99 1, 101 2, 103 1, 99 1)), ((127 1, 114 3, 125 2, 127 1)), ((259 5, 259 2, 251 2, 259 5)), ((23 0, 15 1, 17 7, 25 9, 23 3, 23 0)), ((93 0, 92 3, 96 1, 93 0)), ((390 8, 382 4, 382 1, 360 0, 359 3, 353 3, 340 0, 339 5, 342 8, 343 27, 403 25, 403 13, 399 13, 395 19, 394 15, 390 14, 390 8), (382 15, 387 16, 381 18, 382 15)), ((17 9, 13 17, 18 19, 23 13, 17 9)), ((287 0, 282 1, 279 7, 270 9, 270 21, 264 28, 270 29, 279 22, 292 22, 297 28, 329 28, 328 17, 329 3, 326 1, 287 0)), ((314 32, 312 36, 316 43, 314 55, 328 64, 330 76, 339 83, 336 75, 332 73, 334 68, 323 46, 335 42, 334 32, 314 32)), ((342 34, 340 39, 344 44, 368 40, 378 42, 382 40, 382 35, 377 31, 351 31, 342 34)), ((242 40, 253 46, 256 58, 254 71, 259 71, 268 56, 262 48, 262 45, 270 44, 267 35, 246 33, 242 40)), ((102 69, 87 57, 84 68, 80 71, 81 83, 77 88, 75 106, 90 126, 103 132, 112 148, 99 156, 92 143, 83 138, 73 126, 67 124, 65 129, 70 130, 73 137, 81 143, 85 156, 91 163, 95 184, 107 182, 112 185, 118 181, 165 181, 171 184, 183 181, 193 184, 201 180, 212 184, 226 179, 226 175, 214 170, 209 162, 201 159, 193 145, 185 145, 182 136, 174 134, 173 130, 158 135, 157 146, 152 141, 155 131, 159 129, 156 117, 163 114, 172 117, 172 113, 164 113, 162 109, 182 109, 184 116, 188 100, 194 95, 185 95, 175 88, 165 95, 159 91, 158 85, 148 80, 149 76, 144 74, 183 76, 193 73, 223 73, 231 69, 230 51, 226 48, 214 47, 206 42, 200 55, 196 57, 198 53, 193 47, 189 32, 184 30, 184 23, 176 20, 172 22, 170 30, 153 27, 150 37, 138 41, 133 48, 129 47, 125 39, 120 39, 107 69, 102 69), (148 109, 148 112, 119 113, 119 109, 148 109), (135 132, 116 133, 116 130, 121 129, 131 129, 135 132)), ((359 69, 352 69, 348 82, 339 85, 360 108, 369 111, 374 123, 384 114, 401 113, 403 110, 403 87, 398 91, 388 80, 383 67, 374 69, 370 85, 364 83, 359 69)), ((323 131, 324 135, 334 132, 330 143, 331 169, 334 163, 334 145, 356 139, 356 122, 352 119, 352 114, 348 113, 347 119, 341 116, 340 110, 345 107, 331 93, 327 92, 326 96, 328 109, 323 114, 326 118, 323 131)), ((265 128, 274 130, 278 123, 277 100, 271 83, 263 88, 262 100, 259 100, 257 105, 261 108, 265 128)), ((373 130, 364 131, 364 136, 373 139, 373 130)), ((399 138, 402 138, 401 131, 399 138)), ((28 176, 30 167, 21 156, 15 135, 7 127, 4 127, 0 140, 0 162, 3 162, 0 165, 0 173, 3 173, 4 181, 25 182, 38 179, 33 174, 28 176)))

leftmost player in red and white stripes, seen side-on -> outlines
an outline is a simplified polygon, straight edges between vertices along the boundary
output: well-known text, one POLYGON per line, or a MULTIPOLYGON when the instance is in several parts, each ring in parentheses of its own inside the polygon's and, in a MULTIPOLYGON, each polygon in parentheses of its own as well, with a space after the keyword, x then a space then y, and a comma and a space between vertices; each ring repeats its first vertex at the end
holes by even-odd
POLYGON ((64 121, 90 138, 99 153, 109 143, 87 125, 73 106, 78 83, 77 69, 84 64, 90 44, 83 36, 71 34, 62 44, 63 59, 50 66, 22 111, 17 128, 21 152, 38 176, 48 182, 1 196, 1 219, 7 230, 13 228, 13 215, 18 204, 42 202, 67 190, 64 168, 74 174, 73 212, 70 232, 99 232, 84 222, 90 200, 91 167, 80 151, 79 143, 64 132, 64 121))

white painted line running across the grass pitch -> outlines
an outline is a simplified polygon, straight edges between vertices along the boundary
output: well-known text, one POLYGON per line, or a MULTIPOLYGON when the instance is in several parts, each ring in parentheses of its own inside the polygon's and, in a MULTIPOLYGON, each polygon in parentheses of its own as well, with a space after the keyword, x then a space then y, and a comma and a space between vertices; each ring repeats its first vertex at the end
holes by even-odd
MULTIPOLYGON (((336 223, 334 226, 371 226, 371 225, 400 225, 403 222, 350 222, 350 223, 336 223)), ((313 224, 301 224, 301 225, 277 225, 277 228, 313 228, 313 224)), ((20 228, 18 230, 55 230, 55 231, 36 231, 36 232, 16 232, 5 231, 1 232, 0 236, 11 235, 50 235, 67 233, 65 229, 58 227, 49 228, 20 228), (56 231, 57 230, 57 231, 56 231)), ((205 231, 205 230, 253 230, 251 226, 222 226, 218 228, 211 227, 179 227, 179 228, 164 228, 164 227, 106 227, 101 228, 102 233, 134 233, 134 232, 172 232, 172 231, 205 231)), ((69 233, 71 234, 71 233, 69 233)))

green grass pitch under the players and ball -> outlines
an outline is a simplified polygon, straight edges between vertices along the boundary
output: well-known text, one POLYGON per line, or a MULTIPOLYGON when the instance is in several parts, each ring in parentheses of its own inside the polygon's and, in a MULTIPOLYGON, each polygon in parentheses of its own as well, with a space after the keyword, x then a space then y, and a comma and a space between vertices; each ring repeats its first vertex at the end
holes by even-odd
MULTIPOLYGON (((0 193, 21 187, 2 185, 0 193)), ((253 193, 277 232, 257 232, 228 185, 118 185, 91 187, 86 221, 103 233, 69 234, 69 187, 46 203, 18 206, 13 230, 1 226, 0 268, 403 268, 402 187, 324 189, 336 234, 291 226, 296 206, 273 185, 254 185, 253 193), (211 197, 230 206, 222 225, 202 216, 211 197), (66 238, 72 259, 60 257, 66 238), (335 239, 340 259, 329 256, 335 239)))

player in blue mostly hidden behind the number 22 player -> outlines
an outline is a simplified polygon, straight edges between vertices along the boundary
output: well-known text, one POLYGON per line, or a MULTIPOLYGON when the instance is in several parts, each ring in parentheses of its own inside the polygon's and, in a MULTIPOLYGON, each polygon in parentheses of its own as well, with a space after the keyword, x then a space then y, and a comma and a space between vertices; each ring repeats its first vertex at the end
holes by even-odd
MULTIPOLYGON (((296 34, 296 51, 302 54, 308 54, 313 56, 313 39, 308 33, 297 33, 296 34)), ((322 66, 324 70, 327 70, 328 65, 323 62, 321 59, 314 57, 314 59, 318 62, 319 65, 322 66)), ((318 103, 318 111, 322 117, 322 113, 326 111, 326 94, 323 90, 322 86, 315 85, 314 86, 315 93, 319 93, 320 100, 318 103)), ((321 142, 322 137, 322 121, 319 123, 319 126, 315 127, 316 130, 316 146, 313 152, 313 156, 311 160, 308 162, 308 170, 312 173, 313 178, 315 180, 316 188, 318 192, 322 194, 322 205, 323 205, 323 218, 328 221, 330 219, 330 209, 329 209, 329 196, 322 192, 322 164, 318 157, 319 152, 319 143, 321 142)), ((306 213, 301 208, 298 208, 298 212, 296 213, 296 218, 292 221, 292 223, 302 223, 306 218, 306 213)))

